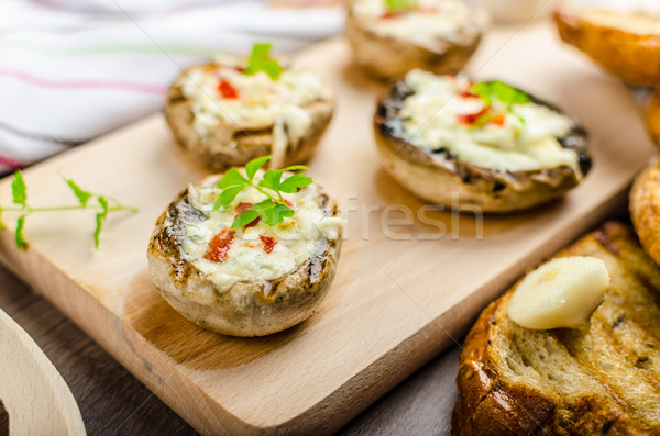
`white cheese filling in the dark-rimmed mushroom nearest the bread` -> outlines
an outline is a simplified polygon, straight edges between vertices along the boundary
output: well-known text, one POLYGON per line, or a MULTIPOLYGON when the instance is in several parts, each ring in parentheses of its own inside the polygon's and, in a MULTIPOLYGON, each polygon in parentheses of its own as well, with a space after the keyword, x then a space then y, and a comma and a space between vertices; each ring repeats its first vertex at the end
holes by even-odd
POLYGON ((404 100, 399 112, 404 136, 438 159, 446 153, 459 160, 497 171, 537 170, 568 166, 582 175, 579 156, 563 148, 573 121, 532 102, 506 105, 493 100, 497 116, 477 125, 487 103, 470 94, 464 76, 436 76, 413 70, 405 78, 415 92, 404 100), (522 121, 524 120, 524 121, 522 121))

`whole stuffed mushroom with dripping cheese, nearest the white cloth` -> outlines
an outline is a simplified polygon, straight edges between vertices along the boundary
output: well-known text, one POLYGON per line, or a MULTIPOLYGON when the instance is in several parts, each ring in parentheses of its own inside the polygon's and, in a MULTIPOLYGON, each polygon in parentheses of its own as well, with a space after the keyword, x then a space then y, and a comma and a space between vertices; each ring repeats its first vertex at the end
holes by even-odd
POLYGON ((165 118, 177 142, 216 171, 272 155, 273 167, 307 160, 332 118, 334 97, 315 74, 268 56, 219 57, 172 85, 165 118))

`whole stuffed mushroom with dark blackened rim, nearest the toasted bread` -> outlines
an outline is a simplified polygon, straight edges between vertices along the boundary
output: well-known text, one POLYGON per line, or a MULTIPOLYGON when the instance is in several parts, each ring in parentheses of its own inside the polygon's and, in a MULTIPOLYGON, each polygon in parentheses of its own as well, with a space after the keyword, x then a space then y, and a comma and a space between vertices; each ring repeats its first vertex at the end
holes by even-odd
POLYGON ((591 168, 586 131, 502 81, 413 70, 378 102, 383 166, 431 203, 524 210, 563 195, 591 168))

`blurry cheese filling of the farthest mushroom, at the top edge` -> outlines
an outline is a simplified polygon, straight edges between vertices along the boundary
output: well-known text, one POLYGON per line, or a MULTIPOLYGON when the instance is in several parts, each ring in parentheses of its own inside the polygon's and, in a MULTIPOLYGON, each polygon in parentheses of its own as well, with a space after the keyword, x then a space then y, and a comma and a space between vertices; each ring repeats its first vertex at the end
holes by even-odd
POLYGON ((353 8, 355 18, 372 32, 431 49, 442 41, 466 45, 485 24, 485 18, 461 0, 420 0, 415 10, 400 13, 389 12, 385 0, 360 0, 353 8))

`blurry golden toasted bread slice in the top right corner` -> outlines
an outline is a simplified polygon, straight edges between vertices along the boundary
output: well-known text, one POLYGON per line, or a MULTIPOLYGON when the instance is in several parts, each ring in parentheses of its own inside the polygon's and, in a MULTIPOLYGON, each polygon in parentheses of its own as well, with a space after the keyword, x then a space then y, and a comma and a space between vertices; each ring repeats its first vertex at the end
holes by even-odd
POLYGON ((563 5, 554 13, 561 38, 629 83, 660 85, 660 19, 563 5))

